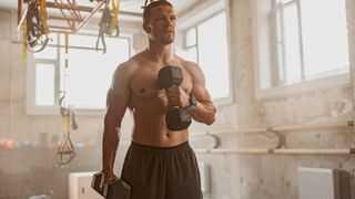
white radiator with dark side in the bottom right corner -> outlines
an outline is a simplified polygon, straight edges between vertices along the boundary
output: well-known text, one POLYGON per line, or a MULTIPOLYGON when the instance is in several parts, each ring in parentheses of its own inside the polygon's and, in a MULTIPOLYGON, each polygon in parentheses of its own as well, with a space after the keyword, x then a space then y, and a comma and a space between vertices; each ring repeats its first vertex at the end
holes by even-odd
POLYGON ((348 172, 298 167, 298 199, 352 199, 348 172))

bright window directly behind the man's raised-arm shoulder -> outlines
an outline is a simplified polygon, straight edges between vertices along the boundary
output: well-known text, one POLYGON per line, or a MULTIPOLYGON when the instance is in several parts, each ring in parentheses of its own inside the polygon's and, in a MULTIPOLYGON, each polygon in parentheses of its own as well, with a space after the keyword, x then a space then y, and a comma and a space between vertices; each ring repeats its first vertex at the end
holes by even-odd
POLYGON ((178 53, 196 62, 215 101, 231 96, 226 12, 220 11, 185 31, 184 50, 178 53))

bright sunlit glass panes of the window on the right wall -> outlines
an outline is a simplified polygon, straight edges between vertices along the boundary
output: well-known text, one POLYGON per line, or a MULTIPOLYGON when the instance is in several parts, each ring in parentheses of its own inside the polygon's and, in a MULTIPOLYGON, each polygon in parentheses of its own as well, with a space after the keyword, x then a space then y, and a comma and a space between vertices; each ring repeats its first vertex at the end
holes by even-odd
POLYGON ((278 83, 348 73, 344 0, 276 0, 278 83))

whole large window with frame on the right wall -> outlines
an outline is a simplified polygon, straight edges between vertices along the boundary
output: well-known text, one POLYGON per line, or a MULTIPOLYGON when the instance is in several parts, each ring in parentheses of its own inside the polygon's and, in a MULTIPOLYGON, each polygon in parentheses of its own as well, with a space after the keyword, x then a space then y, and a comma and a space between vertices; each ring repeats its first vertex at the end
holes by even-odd
POLYGON ((254 1, 260 88, 348 73, 345 0, 257 3, 254 1))

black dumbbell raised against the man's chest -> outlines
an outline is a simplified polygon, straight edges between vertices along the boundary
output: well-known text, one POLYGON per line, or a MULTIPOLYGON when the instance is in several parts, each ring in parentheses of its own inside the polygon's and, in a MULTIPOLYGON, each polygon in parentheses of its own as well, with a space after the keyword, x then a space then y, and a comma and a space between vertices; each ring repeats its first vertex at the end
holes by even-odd
MULTIPOLYGON (((183 81, 182 70, 174 65, 164 66, 159 71, 158 80, 160 88, 168 90, 173 85, 179 86, 183 81)), ((173 106, 166 112, 165 122, 170 130, 182 130, 190 126, 192 119, 185 108, 173 106)))

